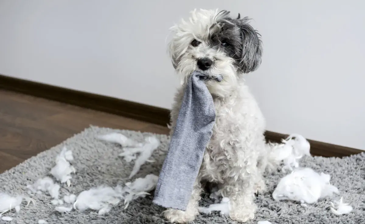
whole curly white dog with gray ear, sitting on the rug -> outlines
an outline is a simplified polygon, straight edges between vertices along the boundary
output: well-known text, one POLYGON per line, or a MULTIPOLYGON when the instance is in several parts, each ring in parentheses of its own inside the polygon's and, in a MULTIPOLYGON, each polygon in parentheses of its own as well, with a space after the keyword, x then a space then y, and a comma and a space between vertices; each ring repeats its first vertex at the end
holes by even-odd
POLYGON ((216 111, 213 134, 186 211, 164 211, 171 222, 195 219, 202 181, 218 184, 218 193, 230 199, 231 219, 254 219, 255 193, 265 189, 263 173, 269 164, 270 147, 264 137, 265 118, 243 77, 257 70, 262 57, 261 36, 249 20, 239 14, 231 17, 226 10, 200 9, 192 11, 188 21, 182 20, 171 28, 169 55, 182 85, 170 113, 170 135, 192 72, 223 76, 221 82, 205 81, 216 111))

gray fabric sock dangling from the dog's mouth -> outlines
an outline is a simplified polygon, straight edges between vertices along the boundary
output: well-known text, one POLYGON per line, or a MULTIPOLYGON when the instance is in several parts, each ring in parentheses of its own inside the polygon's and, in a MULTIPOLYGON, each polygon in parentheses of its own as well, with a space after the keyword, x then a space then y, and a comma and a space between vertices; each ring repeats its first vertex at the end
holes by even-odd
MULTIPOLYGON (((174 133, 158 178, 153 203, 185 211, 198 175, 205 148, 212 136, 215 108, 204 80, 194 71, 189 79, 174 133)), ((222 76, 215 78, 218 82, 222 76)))

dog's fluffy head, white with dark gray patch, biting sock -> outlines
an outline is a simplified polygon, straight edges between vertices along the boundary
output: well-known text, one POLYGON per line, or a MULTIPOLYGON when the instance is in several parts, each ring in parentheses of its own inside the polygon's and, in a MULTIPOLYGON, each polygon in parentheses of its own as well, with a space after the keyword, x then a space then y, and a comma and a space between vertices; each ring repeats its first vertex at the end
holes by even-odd
POLYGON ((242 73, 260 66, 262 54, 260 34, 248 24, 249 19, 229 14, 226 10, 194 10, 188 21, 171 28, 169 44, 173 66, 182 81, 194 70, 213 78, 222 75, 222 82, 206 82, 212 94, 221 96, 235 89, 242 73))

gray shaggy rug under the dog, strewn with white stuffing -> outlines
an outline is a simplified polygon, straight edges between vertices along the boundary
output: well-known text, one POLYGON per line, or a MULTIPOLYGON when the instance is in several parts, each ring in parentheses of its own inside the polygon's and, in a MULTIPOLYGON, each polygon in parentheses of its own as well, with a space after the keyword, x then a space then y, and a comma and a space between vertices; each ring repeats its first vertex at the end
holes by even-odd
MULTIPOLYGON (((122 133, 137 141, 152 133, 140 133, 129 130, 114 130, 91 126, 82 133, 67 139, 61 144, 38 154, 35 157, 19 164, 18 166, 0 174, 0 192, 23 193, 27 184, 33 184, 38 178, 49 174, 54 166, 56 155, 63 146, 71 149, 75 158, 76 174, 73 174, 70 188, 61 188, 62 192, 78 194, 83 190, 100 185, 115 186, 124 185, 134 162, 127 163, 118 154, 122 151, 117 144, 111 144, 96 139, 97 135, 112 132, 122 133)), ((142 166, 138 174, 133 177, 144 177, 146 174, 158 175, 164 155, 168 148, 168 137, 166 135, 155 135, 161 141, 160 147, 154 151, 153 163, 142 166)), ((285 174, 276 171, 267 175, 268 191, 257 196, 256 203, 258 211, 253 221, 248 224, 256 224, 258 221, 268 220, 273 224, 333 224, 333 223, 365 223, 365 153, 350 157, 323 158, 306 157, 301 160, 302 167, 310 167, 317 172, 324 172, 331 175, 331 184, 338 187, 340 196, 332 199, 320 199, 318 203, 301 207, 299 203, 291 201, 276 202, 272 199, 271 193, 281 177, 285 174), (330 211, 330 201, 343 197, 345 203, 350 203, 354 210, 347 215, 336 216, 330 211)), ((13 217, 11 222, 1 221, 0 223, 37 223, 37 220, 44 219, 50 224, 73 224, 73 223, 105 223, 105 224, 139 224, 139 223, 168 223, 161 212, 163 208, 152 203, 153 192, 150 196, 132 201, 127 209, 123 209, 123 203, 114 207, 109 213, 99 216, 96 212, 72 211, 61 214, 55 211, 55 206, 50 203, 50 197, 45 194, 34 196, 36 205, 24 207, 20 213, 14 210, 5 213, 5 216, 13 217)), ((203 194, 201 206, 208 206, 213 203, 208 194, 203 194)), ((192 223, 237 223, 229 217, 222 216, 219 212, 210 215, 198 215, 192 223)))

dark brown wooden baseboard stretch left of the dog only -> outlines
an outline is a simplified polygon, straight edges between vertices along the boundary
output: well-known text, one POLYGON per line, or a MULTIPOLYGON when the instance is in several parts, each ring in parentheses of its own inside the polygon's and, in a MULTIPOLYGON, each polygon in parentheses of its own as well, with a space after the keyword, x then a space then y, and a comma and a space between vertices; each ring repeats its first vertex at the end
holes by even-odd
POLYGON ((170 111, 0 74, 0 88, 166 126, 170 111))

